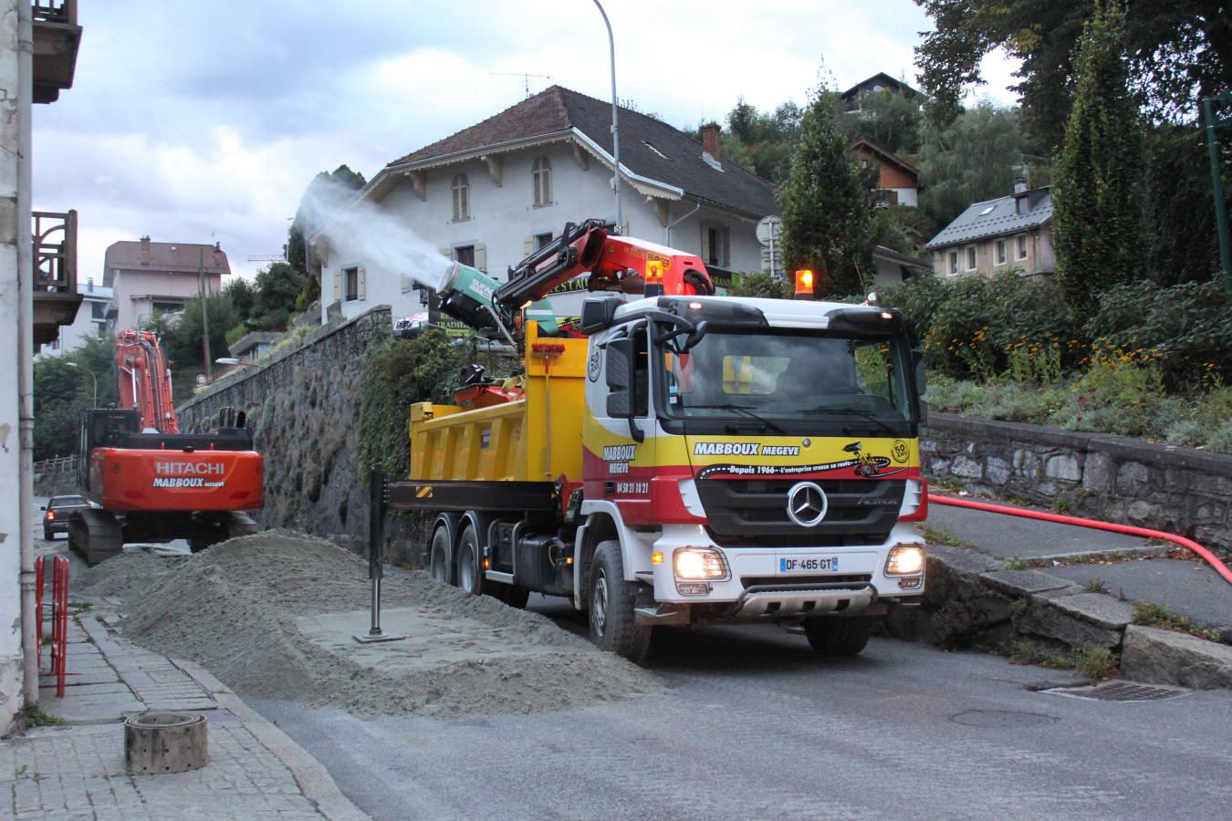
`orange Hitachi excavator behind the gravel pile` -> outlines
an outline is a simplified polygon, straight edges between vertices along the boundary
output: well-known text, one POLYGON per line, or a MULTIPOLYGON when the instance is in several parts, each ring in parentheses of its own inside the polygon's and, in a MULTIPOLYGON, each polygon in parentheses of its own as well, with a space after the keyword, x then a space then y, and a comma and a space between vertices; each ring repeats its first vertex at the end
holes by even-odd
POLYGON ((126 542, 187 539, 193 550, 256 531, 244 512, 264 503, 265 465, 244 414, 227 407, 217 430, 181 433, 171 372, 158 336, 116 337, 118 407, 81 414, 78 484, 100 507, 69 519, 69 548, 89 564, 126 542))

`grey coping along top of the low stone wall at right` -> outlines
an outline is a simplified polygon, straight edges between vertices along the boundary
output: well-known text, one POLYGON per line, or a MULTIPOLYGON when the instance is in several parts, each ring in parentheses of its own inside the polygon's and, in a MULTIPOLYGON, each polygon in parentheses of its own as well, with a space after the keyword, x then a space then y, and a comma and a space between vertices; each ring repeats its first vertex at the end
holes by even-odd
POLYGON ((1112 433, 1089 433, 1066 431, 1046 425, 1027 425, 1025 422, 1005 422, 962 414, 929 412, 925 430, 958 433, 978 432, 989 438, 1044 444, 1056 448, 1071 448, 1106 453, 1122 460, 1142 462, 1158 468, 1180 468, 1200 470, 1207 474, 1232 478, 1232 455, 1183 448, 1162 442, 1146 442, 1112 433))

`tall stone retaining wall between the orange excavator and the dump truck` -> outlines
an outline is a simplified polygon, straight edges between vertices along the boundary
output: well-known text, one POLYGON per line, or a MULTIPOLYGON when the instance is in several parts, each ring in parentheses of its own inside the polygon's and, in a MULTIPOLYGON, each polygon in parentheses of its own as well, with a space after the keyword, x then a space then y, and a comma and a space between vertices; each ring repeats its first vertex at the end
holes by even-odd
MULTIPOLYGON (((359 475, 360 378, 368 352, 388 338, 388 305, 328 325, 276 353, 261 368, 218 382, 177 409, 184 431, 209 428, 227 406, 248 414, 265 455, 267 527, 294 528, 363 553, 368 491, 359 475)), ((410 443, 408 442, 408 447, 410 443)), ((419 561, 407 515, 386 522, 386 556, 419 561)))

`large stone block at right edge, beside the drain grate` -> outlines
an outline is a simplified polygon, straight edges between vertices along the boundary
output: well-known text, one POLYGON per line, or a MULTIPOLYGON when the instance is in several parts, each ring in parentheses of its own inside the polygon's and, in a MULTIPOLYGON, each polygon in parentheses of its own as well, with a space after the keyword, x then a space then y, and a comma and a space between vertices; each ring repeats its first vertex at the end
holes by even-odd
POLYGON ((1131 624, 1125 629, 1121 676, 1151 684, 1232 688, 1232 647, 1185 633, 1131 624))

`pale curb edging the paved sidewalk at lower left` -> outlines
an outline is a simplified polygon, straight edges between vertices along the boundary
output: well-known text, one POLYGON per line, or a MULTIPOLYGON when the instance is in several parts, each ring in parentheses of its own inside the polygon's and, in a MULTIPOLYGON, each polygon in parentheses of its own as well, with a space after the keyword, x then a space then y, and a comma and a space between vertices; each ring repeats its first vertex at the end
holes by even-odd
POLYGON ((291 736, 280 730, 272 721, 250 708, 229 687, 214 678, 213 673, 191 661, 171 659, 171 663, 187 673, 209 695, 235 715, 253 736, 266 750, 286 764, 304 798, 317 805, 320 814, 331 821, 359 821, 368 816, 342 795, 334 778, 325 767, 308 755, 291 736))

